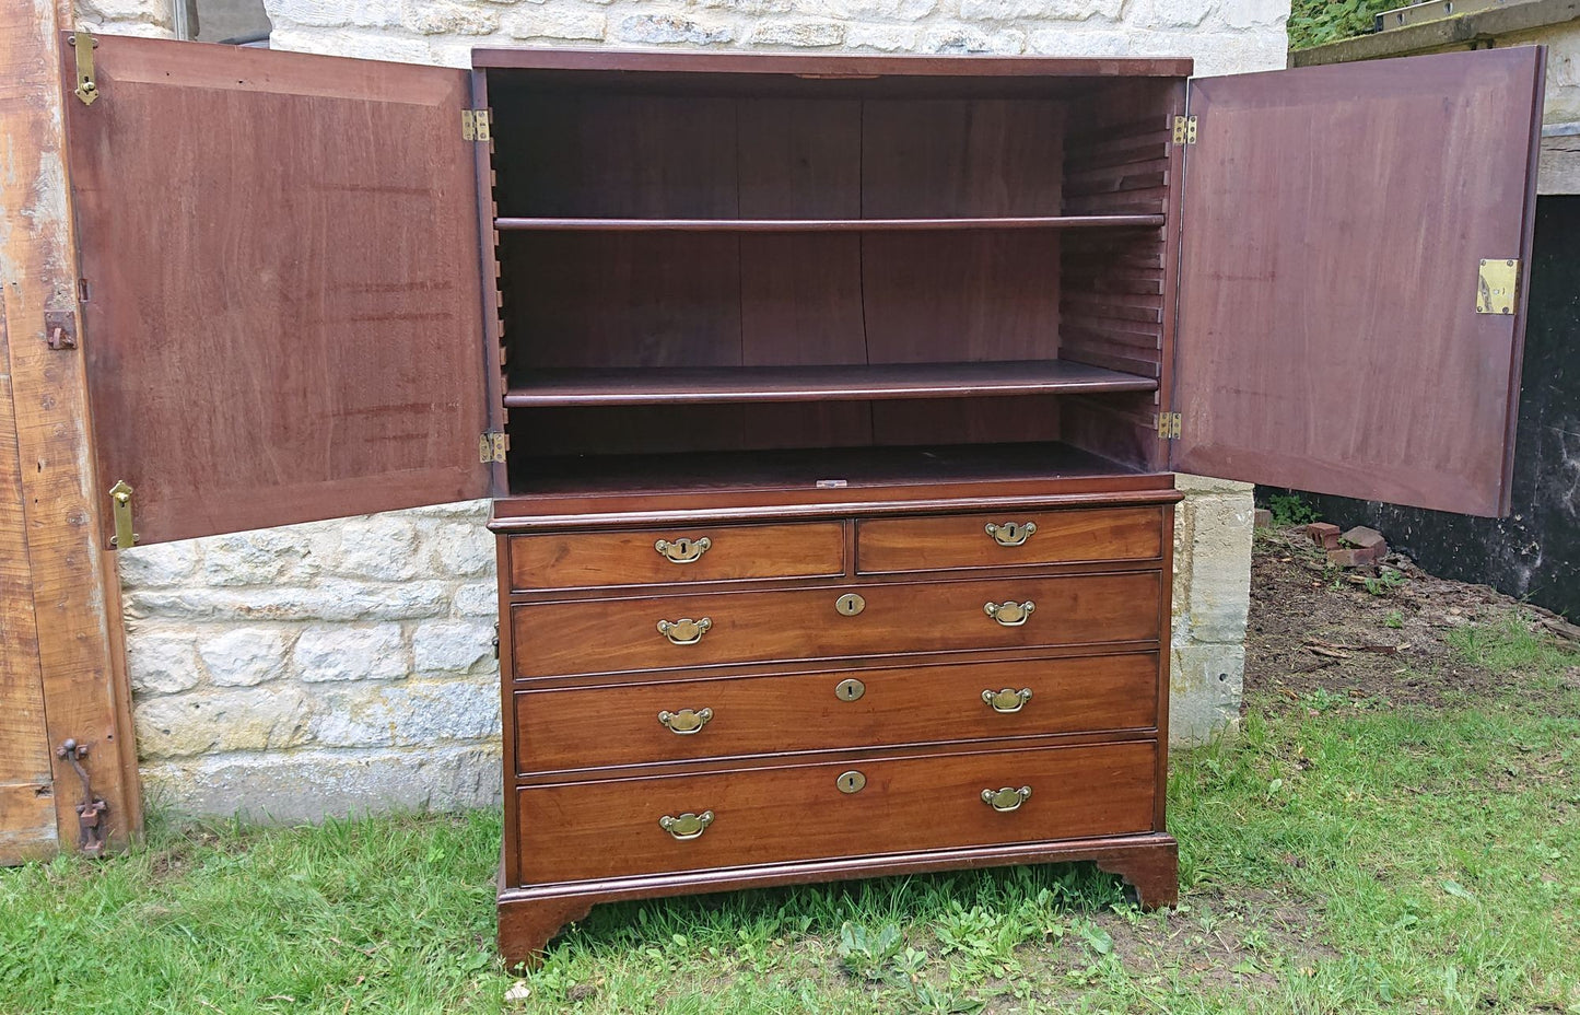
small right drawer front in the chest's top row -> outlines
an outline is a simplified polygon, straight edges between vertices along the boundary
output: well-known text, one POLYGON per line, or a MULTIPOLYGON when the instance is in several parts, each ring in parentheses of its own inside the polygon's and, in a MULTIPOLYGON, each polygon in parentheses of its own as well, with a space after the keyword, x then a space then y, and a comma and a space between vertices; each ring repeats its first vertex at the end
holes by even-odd
POLYGON ((1153 560, 1161 553, 1161 508, 874 519, 856 525, 861 574, 1153 560))

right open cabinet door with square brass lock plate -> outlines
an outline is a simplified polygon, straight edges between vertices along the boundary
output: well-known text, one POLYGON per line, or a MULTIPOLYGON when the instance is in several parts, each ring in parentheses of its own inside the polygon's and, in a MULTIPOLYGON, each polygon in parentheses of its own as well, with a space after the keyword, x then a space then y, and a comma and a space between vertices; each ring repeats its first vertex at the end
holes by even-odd
POLYGON ((1191 82, 1176 470, 1507 514, 1544 57, 1191 82))

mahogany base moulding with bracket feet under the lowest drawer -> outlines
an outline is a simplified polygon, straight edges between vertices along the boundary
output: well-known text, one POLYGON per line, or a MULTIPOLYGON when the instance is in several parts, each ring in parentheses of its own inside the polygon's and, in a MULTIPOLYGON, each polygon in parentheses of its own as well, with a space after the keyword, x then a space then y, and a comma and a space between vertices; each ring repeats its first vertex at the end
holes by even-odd
POLYGON ((848 857, 804 863, 735 866, 686 874, 615 877, 575 884, 499 889, 499 953, 507 966, 537 966, 559 931, 586 919, 592 906, 634 898, 664 898, 705 892, 736 892, 776 885, 927 874, 1021 863, 1093 862, 1119 874, 1146 909, 1172 906, 1179 898, 1179 846, 1172 835, 1131 835, 1062 843, 1016 843, 975 849, 937 849, 878 857, 848 857))

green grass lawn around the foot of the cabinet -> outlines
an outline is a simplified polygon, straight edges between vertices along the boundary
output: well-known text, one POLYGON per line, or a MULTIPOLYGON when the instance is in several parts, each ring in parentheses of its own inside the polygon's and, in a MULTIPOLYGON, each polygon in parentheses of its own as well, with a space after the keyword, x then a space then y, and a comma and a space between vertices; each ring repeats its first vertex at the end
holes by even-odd
POLYGON ((1580 1012, 1580 658, 1454 643, 1517 677, 1179 757, 1169 914, 1084 865, 626 903, 506 1002, 498 814, 155 827, 0 871, 0 1012, 1580 1012))

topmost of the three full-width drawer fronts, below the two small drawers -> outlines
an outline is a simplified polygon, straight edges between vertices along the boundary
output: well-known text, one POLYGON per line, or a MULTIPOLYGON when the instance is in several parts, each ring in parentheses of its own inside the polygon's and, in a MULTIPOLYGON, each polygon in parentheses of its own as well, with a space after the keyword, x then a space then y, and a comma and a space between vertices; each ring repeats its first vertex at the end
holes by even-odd
POLYGON ((1136 571, 518 604, 514 669, 526 678, 1152 640, 1160 591, 1157 571, 1136 571), (847 594, 861 612, 839 612, 847 594), (1027 601, 1024 617, 1000 609, 1027 601))

